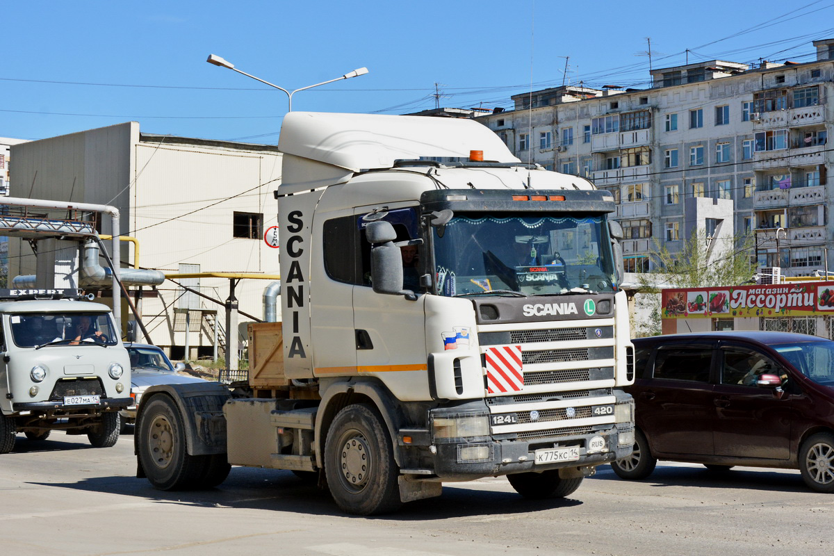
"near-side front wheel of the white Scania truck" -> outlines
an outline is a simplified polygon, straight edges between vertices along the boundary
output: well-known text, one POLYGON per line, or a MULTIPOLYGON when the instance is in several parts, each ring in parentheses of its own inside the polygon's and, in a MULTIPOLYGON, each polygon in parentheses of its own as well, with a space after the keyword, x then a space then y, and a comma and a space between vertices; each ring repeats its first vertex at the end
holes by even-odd
POLYGON ((324 473, 345 513, 387 513, 401 504, 394 448, 379 413, 368 405, 349 405, 334 418, 324 443, 324 473))

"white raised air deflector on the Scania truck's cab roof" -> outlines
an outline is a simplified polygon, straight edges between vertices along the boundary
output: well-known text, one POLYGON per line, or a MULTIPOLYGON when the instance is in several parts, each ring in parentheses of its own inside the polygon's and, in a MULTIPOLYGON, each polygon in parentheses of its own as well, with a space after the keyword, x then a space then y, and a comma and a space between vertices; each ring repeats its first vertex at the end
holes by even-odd
POLYGON ((353 172, 391 168, 398 159, 468 158, 472 150, 483 151, 484 160, 520 162, 481 123, 427 116, 290 112, 278 148, 353 172))

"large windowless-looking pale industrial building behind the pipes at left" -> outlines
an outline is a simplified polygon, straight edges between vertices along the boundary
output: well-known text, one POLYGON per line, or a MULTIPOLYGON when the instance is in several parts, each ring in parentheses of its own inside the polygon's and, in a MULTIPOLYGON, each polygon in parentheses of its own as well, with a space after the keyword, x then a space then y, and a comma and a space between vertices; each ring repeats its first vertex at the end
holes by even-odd
MULTIPOLYGON (((152 135, 130 122, 13 145, 12 153, 16 197, 115 206, 119 235, 133 238, 123 242, 123 265, 176 280, 131 291, 150 339, 173 358, 211 356, 215 322, 222 357, 222 302, 231 283, 241 313, 263 318, 264 288, 279 273, 278 249, 264 242, 278 224, 276 147, 152 135), (239 273, 249 276, 234 278, 239 273)), ((112 233, 107 218, 94 224, 112 233)), ((36 271, 28 242, 12 239, 9 259, 10 280, 36 271)), ((123 322, 133 318, 126 306, 122 311, 123 322)), ((242 314, 240 322, 247 320, 242 314)))

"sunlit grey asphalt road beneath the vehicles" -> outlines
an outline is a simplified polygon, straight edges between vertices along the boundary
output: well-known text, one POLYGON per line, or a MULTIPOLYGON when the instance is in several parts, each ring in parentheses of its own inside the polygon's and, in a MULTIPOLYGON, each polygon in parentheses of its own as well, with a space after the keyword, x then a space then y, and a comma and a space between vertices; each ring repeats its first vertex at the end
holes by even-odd
POLYGON ((0 455, 0 554, 831 554, 834 494, 798 472, 662 465, 643 482, 610 467, 570 498, 530 502, 505 478, 444 487, 391 516, 346 516, 292 473, 233 468, 219 488, 163 493, 134 477, 133 436, 23 435, 0 455))

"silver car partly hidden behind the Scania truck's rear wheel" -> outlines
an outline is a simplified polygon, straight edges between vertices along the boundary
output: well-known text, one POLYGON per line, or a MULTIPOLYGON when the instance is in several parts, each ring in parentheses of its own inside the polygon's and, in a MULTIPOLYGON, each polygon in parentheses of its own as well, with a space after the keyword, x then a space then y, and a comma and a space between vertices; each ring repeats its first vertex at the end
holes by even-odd
POLYGON ((130 354, 130 397, 133 405, 119 414, 123 423, 136 423, 136 408, 146 389, 157 384, 202 383, 202 378, 179 374, 185 368, 183 363, 171 364, 162 349, 148 343, 125 343, 130 354))

